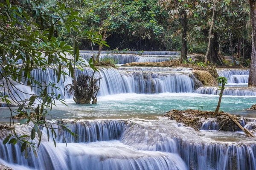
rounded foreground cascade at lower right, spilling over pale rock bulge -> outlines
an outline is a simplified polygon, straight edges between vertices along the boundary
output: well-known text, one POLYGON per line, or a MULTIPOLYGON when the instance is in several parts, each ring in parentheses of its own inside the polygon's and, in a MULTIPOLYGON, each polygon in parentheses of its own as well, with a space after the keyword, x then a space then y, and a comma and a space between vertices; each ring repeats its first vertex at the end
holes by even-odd
MULTIPOLYGON (((189 169, 253 170, 255 168, 255 142, 249 144, 217 142, 207 136, 199 136, 189 128, 184 128, 172 120, 136 122, 126 128, 121 140, 124 144, 140 150, 178 153, 189 169)), ((213 132, 206 131, 206 133, 213 132)))

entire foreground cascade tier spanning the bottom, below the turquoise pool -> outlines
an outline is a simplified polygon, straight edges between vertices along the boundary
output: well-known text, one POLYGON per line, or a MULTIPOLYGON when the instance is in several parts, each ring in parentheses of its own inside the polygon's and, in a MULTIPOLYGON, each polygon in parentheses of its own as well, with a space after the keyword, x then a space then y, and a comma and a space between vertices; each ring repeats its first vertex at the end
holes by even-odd
MULTIPOLYGON (((102 140, 97 142, 83 141, 87 134, 79 133, 81 139, 68 141, 68 147, 58 140, 55 148, 52 141, 45 142, 46 132, 43 131, 38 158, 30 152, 25 159, 18 144, 12 147, 0 142, 0 161, 17 170, 18 165, 39 170, 253 170, 256 166, 256 142, 242 133, 227 136, 227 132, 202 131, 205 135, 202 136, 167 118, 64 122, 73 124, 73 132, 86 129, 92 136, 101 136, 101 132, 115 136, 115 131, 119 130, 120 134, 111 141, 97 137, 102 140)), ((29 126, 22 125, 17 127, 17 132, 28 129, 29 126)), ((67 134, 65 136, 69 139, 67 134)))

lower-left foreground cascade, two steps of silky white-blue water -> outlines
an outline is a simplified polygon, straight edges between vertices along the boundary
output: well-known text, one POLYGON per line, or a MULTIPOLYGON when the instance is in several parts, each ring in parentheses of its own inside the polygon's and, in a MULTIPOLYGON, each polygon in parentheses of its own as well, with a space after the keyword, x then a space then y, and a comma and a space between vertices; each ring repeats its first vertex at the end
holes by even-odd
MULTIPOLYGON (((68 147, 66 147, 66 144, 62 143, 63 141, 59 138, 60 140, 58 141, 61 143, 57 143, 55 148, 52 141, 46 142, 47 133, 44 130, 41 146, 37 152, 38 158, 36 158, 31 150, 28 159, 25 159, 24 156, 21 156, 20 144, 15 146, 10 144, 3 145, 0 139, 0 161, 3 160, 10 165, 14 164, 16 167, 17 165, 22 165, 23 167, 38 170, 188 169, 177 153, 137 150, 122 144, 118 140, 113 140, 119 139, 123 132, 125 124, 122 120, 97 120, 91 122, 67 120, 67 122, 73 123, 71 127, 73 132, 81 132, 78 133, 81 135, 80 140, 73 141, 71 139, 69 141, 71 143, 67 143, 68 147), (91 139, 95 140, 85 139, 85 137, 88 137, 88 134, 92 135, 91 139), (102 142, 96 142, 96 140, 102 140, 102 142), (108 140, 113 141, 106 142, 108 140)), ((21 125, 19 128, 20 130, 23 128, 28 130, 29 127, 21 125)), ((69 140, 70 136, 66 133, 64 135, 69 140)), ((3 133, 1 136, 3 136, 3 133)))

